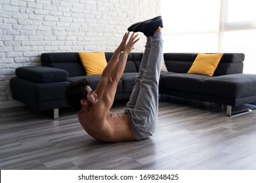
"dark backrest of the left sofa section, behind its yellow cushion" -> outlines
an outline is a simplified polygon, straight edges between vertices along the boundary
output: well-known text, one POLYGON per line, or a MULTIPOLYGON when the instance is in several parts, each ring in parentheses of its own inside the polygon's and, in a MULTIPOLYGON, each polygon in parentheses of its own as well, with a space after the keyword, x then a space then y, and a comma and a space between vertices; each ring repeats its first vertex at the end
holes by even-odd
MULTIPOLYGON (((106 60, 110 61, 113 52, 105 52, 106 60)), ((128 56, 125 66, 125 73, 139 72, 142 53, 131 53, 128 56)), ((77 52, 53 52, 41 54, 41 65, 63 69, 68 72, 68 76, 86 75, 85 69, 77 52)))

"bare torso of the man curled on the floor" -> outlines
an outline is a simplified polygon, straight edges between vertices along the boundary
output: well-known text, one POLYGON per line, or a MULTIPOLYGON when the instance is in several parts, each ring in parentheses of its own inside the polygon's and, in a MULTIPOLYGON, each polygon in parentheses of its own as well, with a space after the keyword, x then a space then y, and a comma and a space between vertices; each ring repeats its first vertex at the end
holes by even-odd
POLYGON ((96 123, 92 112, 77 113, 80 124, 91 137, 106 142, 133 141, 129 116, 108 112, 101 123, 96 123), (101 124, 100 126, 97 124, 101 124))

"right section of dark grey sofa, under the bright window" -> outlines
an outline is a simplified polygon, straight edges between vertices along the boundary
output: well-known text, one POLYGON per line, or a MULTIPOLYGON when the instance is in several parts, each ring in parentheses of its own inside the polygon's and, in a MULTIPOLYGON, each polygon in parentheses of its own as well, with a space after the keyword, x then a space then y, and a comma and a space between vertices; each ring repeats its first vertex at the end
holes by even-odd
POLYGON ((256 75, 242 74, 244 54, 225 53, 213 76, 186 74, 198 54, 165 53, 160 93, 232 107, 256 102, 256 75))

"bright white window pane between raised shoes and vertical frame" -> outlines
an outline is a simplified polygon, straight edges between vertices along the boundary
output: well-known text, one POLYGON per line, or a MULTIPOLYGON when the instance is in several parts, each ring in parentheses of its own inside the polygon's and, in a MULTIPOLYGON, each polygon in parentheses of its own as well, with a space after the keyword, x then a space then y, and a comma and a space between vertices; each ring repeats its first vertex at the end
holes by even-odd
POLYGON ((162 0, 164 52, 217 52, 220 1, 162 0))

